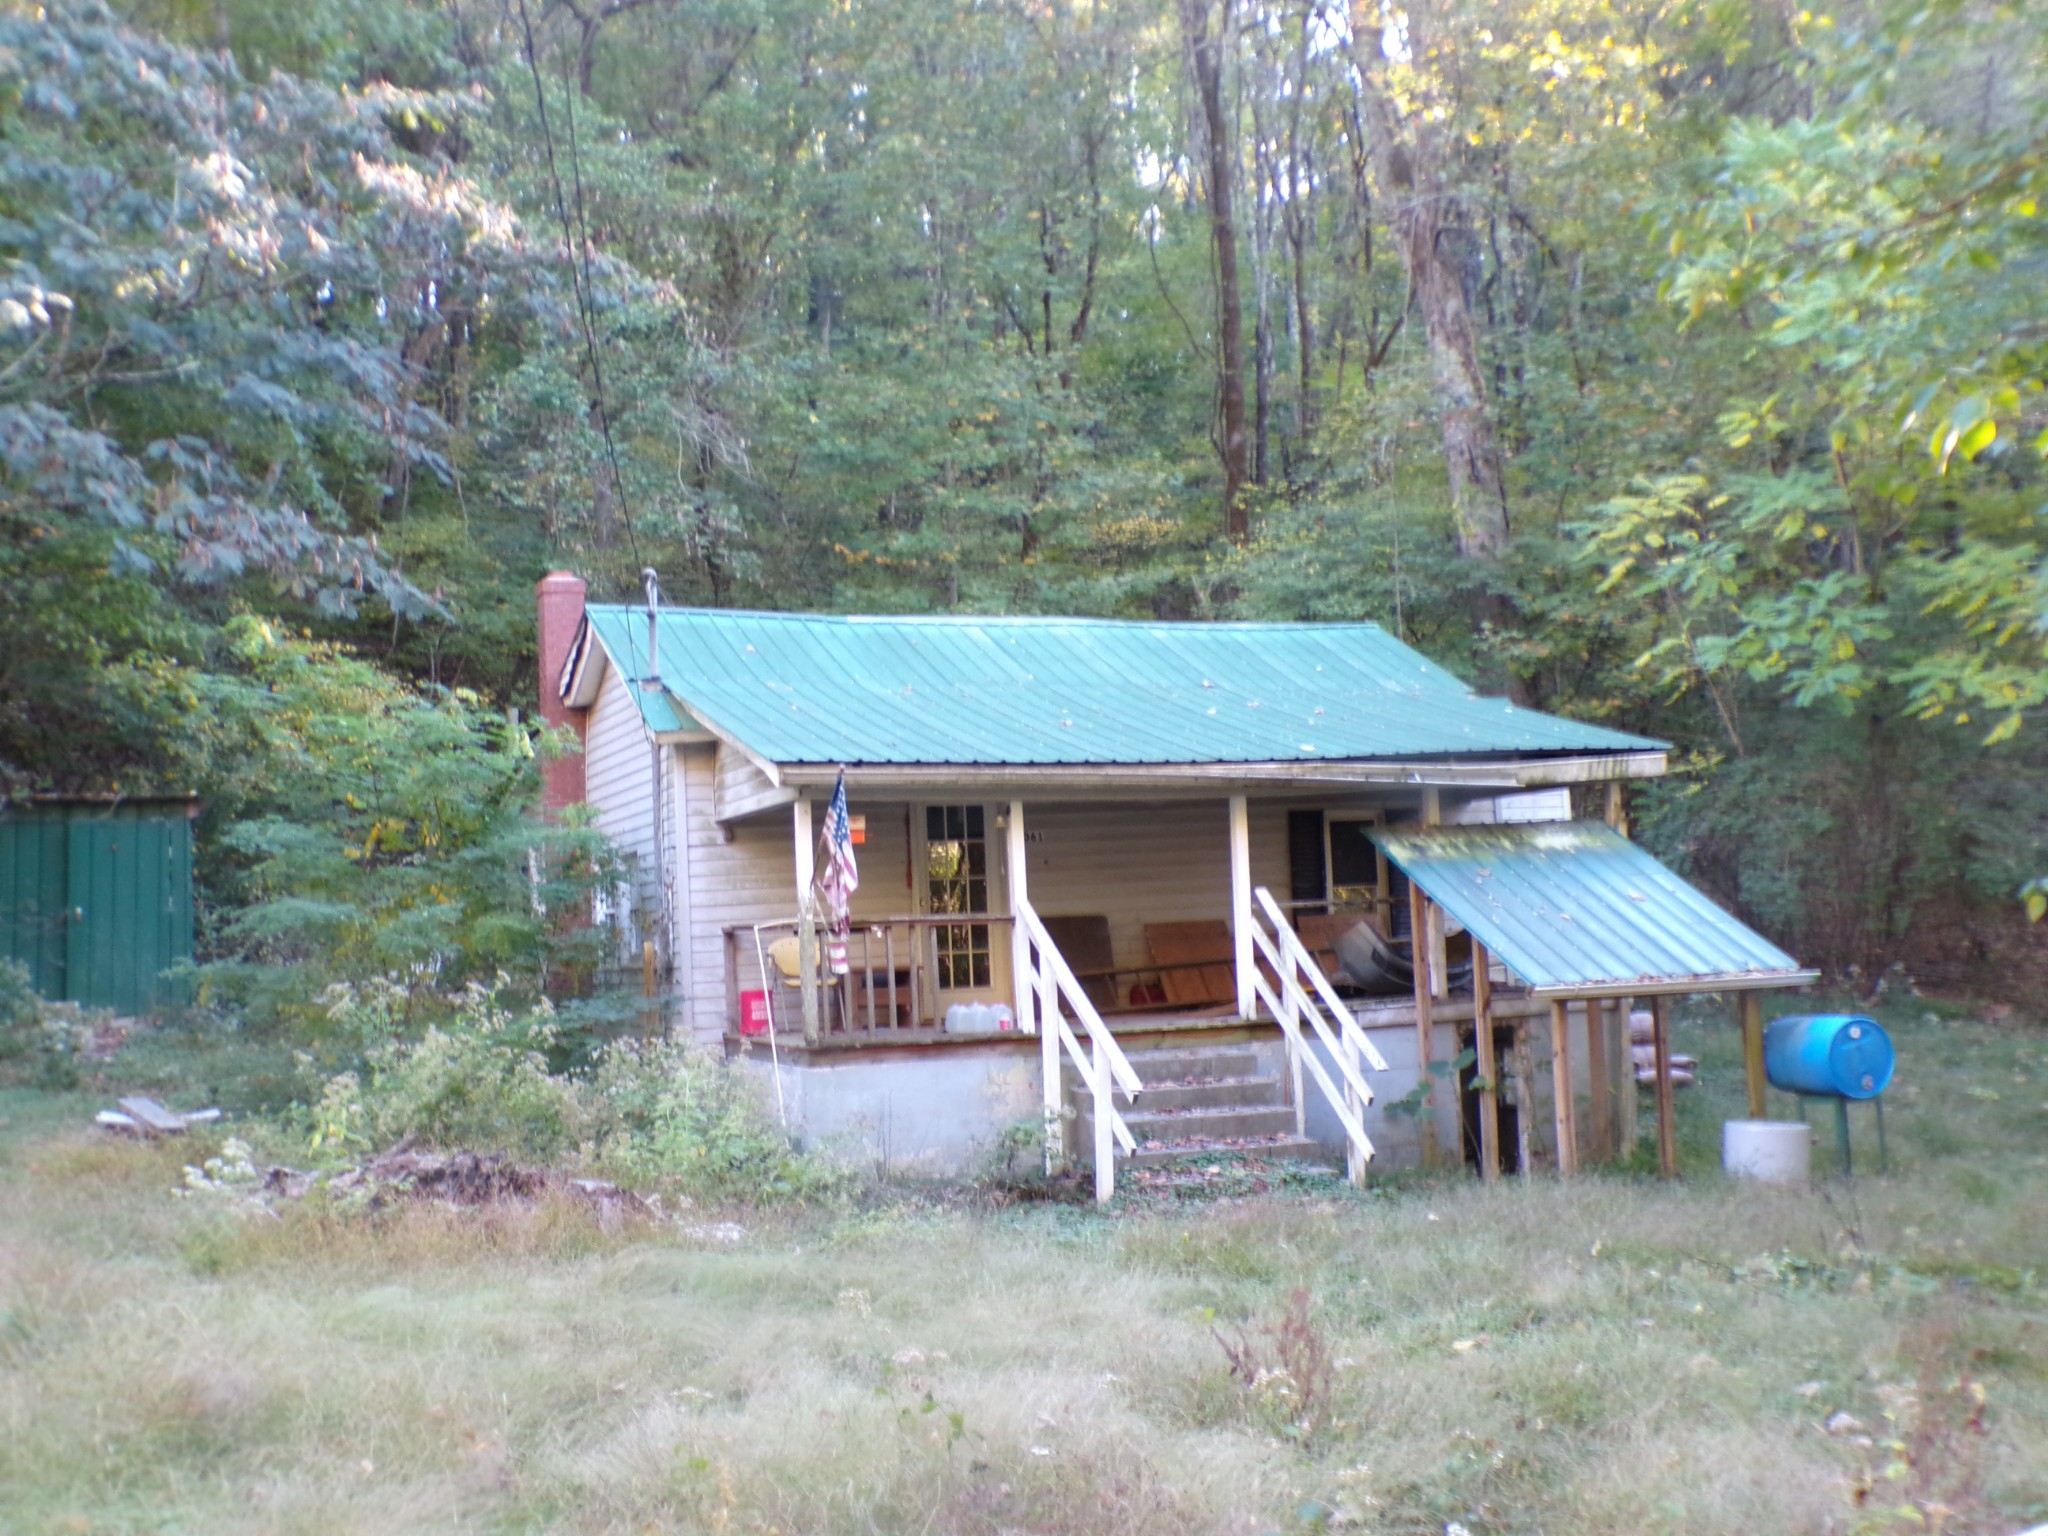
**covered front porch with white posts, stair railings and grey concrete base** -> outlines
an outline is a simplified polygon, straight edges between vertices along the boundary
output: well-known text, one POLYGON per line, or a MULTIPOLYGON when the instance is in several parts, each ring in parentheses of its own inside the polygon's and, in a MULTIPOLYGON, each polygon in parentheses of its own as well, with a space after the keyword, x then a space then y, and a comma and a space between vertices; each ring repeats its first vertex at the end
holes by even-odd
MULTIPOLYGON (((1456 1159, 1470 1139, 1460 1116, 1427 1112, 1481 1012, 1456 926, 1423 913, 1413 932, 1425 965, 1405 961, 1423 983, 1403 977, 1401 995, 1384 979, 1380 995, 1356 987, 1331 948, 1364 924, 1395 958, 1411 956, 1405 883, 1366 834, 1444 815, 1436 786, 1319 805, 854 805, 866 836, 846 973, 825 965, 815 911, 719 934, 727 1049, 774 1077, 807 1135, 938 1171, 973 1163, 973 1147, 1018 1124, 1042 1126, 1049 1159, 1094 1165, 1106 1192, 1118 1163, 1171 1151, 1143 1135, 1161 1098, 1147 1096, 1147 1059, 1243 1049, 1257 1079, 1276 1083, 1260 1124, 1276 1110, 1288 1122, 1268 1139, 1313 1147, 1352 1178, 1374 1157, 1456 1159), (881 907, 877 887, 895 887, 897 870, 926 911, 881 907)), ((1450 813, 1475 807, 1499 815, 1497 799, 1477 797, 1450 813)), ((811 809, 799 801, 786 815, 788 889, 807 891, 811 809)), ((1505 973, 1487 1008, 1509 1030, 1548 1012, 1505 973)), ((1507 1094, 1528 1104, 1520 1118, 1534 1120, 1534 1075, 1511 1081, 1507 1094)), ((1194 1153, 1204 1141, 1174 1145, 1194 1153)))

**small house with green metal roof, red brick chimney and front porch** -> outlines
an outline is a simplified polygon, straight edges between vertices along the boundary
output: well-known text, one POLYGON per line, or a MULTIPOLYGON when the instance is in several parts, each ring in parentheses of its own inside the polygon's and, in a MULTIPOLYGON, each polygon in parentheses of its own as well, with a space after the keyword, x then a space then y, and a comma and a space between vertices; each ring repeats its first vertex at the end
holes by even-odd
POLYGON ((627 854, 625 958, 879 1163, 958 1169, 1024 1122, 1102 1194, 1217 1145, 1569 1171, 1634 1083, 1616 999, 1810 979, 1571 819, 1618 817, 1665 743, 1475 694, 1374 625, 588 604, 567 573, 539 612, 543 713, 584 741, 549 805, 627 854), (842 774, 834 975, 809 895, 842 774), (1427 1067, 1460 1040, 1454 1096, 1427 1067))

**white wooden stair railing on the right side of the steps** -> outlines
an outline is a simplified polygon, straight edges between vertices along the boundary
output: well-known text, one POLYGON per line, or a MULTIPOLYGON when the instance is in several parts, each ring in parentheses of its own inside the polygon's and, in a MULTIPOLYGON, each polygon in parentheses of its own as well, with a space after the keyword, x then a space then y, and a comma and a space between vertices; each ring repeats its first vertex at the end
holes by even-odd
POLYGON ((1262 885, 1251 897, 1257 907, 1251 920, 1251 946, 1264 963, 1253 967, 1251 985, 1260 1001, 1266 1004, 1266 1012, 1280 1024, 1280 1034, 1286 1040, 1294 1128, 1296 1133, 1307 1130, 1307 1100, 1303 1098, 1303 1073, 1307 1071, 1343 1126, 1346 1174, 1352 1184, 1364 1184, 1366 1163, 1372 1161, 1372 1139, 1364 1124, 1372 1085, 1366 1081, 1364 1065, 1370 1063, 1374 1071, 1386 1071, 1386 1059, 1380 1057, 1378 1047, 1358 1026, 1352 1010, 1337 997, 1337 989, 1329 985, 1321 963, 1300 942, 1300 934, 1294 932, 1294 924, 1288 922, 1286 909, 1274 901, 1272 891, 1262 885), (1309 1049, 1307 1032, 1311 1030, 1335 1063, 1335 1077, 1309 1049))

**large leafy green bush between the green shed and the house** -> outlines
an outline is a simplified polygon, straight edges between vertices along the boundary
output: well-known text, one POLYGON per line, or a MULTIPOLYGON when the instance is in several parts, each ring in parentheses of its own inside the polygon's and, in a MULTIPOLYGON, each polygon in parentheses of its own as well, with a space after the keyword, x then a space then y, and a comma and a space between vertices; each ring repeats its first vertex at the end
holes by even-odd
POLYGON ((301 1020, 334 981, 408 979, 401 1008, 506 975, 588 975, 610 881, 598 834, 537 815, 539 741, 461 690, 420 690, 272 625, 229 625, 246 676, 201 684, 201 750, 242 811, 219 838, 209 987, 301 1020))

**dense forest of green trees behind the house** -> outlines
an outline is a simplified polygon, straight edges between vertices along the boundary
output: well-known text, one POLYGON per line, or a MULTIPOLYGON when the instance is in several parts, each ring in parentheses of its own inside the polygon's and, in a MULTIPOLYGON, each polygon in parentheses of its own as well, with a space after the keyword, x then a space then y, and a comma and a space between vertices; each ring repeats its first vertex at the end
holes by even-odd
POLYGON ((2044 66, 1991 2, 0 0, 0 793, 199 791, 217 965, 453 977, 549 930, 551 567, 1370 618, 1671 739, 1636 834, 1804 961, 2038 987, 2044 66))

